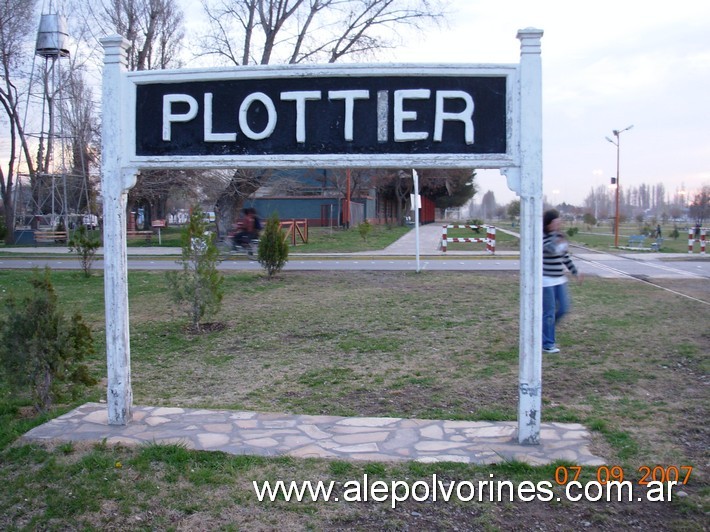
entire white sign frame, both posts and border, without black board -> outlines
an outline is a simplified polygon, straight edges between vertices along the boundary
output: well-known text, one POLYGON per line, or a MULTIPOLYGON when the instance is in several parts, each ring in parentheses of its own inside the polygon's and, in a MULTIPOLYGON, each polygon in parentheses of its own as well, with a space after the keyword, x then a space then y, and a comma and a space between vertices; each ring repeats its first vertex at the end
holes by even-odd
MULTIPOLYGON (((106 305, 107 407, 111 425, 130 422, 130 333, 126 254, 128 191, 142 169, 235 167, 351 167, 351 168, 499 168, 508 186, 520 196, 520 339, 518 378, 518 441, 540 443, 542 392, 542 30, 527 28, 521 42, 519 65, 327 65, 261 66, 234 69, 127 72, 128 42, 113 35, 104 47, 102 94, 101 179, 104 200, 104 292, 106 305), (234 77, 372 75, 505 75, 506 153, 300 155, 300 156, 178 156, 145 157, 135 154, 136 86, 184 80, 234 77)), ((472 385, 475 385, 472 383, 472 385)))

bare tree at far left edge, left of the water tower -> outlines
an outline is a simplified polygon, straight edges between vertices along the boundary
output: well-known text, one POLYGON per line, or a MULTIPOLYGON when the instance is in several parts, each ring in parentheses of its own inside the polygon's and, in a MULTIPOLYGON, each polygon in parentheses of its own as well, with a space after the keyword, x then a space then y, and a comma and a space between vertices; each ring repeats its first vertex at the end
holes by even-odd
POLYGON ((23 68, 29 56, 27 35, 33 35, 36 5, 36 0, 5 0, 0 9, 0 105, 5 113, 3 122, 7 121, 9 137, 7 152, 2 154, 7 163, 0 166, 0 195, 7 228, 5 242, 8 244, 12 244, 15 238, 14 194, 21 155, 28 173, 35 173, 23 126, 18 84, 29 77, 23 68))

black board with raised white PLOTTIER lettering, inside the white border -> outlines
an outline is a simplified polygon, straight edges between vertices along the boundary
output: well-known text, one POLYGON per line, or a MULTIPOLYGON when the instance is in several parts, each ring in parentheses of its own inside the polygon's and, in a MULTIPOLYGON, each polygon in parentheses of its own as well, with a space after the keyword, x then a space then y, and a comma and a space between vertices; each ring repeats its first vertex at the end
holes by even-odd
POLYGON ((135 155, 505 154, 505 75, 136 85, 135 155))

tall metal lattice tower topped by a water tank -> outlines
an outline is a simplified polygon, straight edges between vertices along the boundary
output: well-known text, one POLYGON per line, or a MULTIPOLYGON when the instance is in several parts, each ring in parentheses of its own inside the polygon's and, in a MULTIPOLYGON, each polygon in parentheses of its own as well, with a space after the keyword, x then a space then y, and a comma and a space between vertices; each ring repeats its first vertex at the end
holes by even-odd
POLYGON ((38 130, 28 133, 37 147, 36 164, 32 175, 23 176, 18 187, 21 199, 16 202, 18 225, 35 230, 69 230, 77 224, 95 226, 98 222, 89 214, 89 177, 83 156, 78 162, 72 156, 83 155, 83 151, 74 149, 66 116, 71 104, 65 91, 70 74, 69 44, 64 15, 58 9, 42 13, 25 115, 25 120, 30 114, 38 123, 38 130))

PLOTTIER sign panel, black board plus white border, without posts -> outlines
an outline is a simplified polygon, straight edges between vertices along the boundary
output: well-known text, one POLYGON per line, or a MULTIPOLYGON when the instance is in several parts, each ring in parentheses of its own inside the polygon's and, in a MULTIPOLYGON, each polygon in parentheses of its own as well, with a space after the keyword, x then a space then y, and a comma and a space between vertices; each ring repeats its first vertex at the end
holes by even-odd
POLYGON ((127 76, 126 157, 141 167, 516 164, 517 67, 379 70, 127 76))

